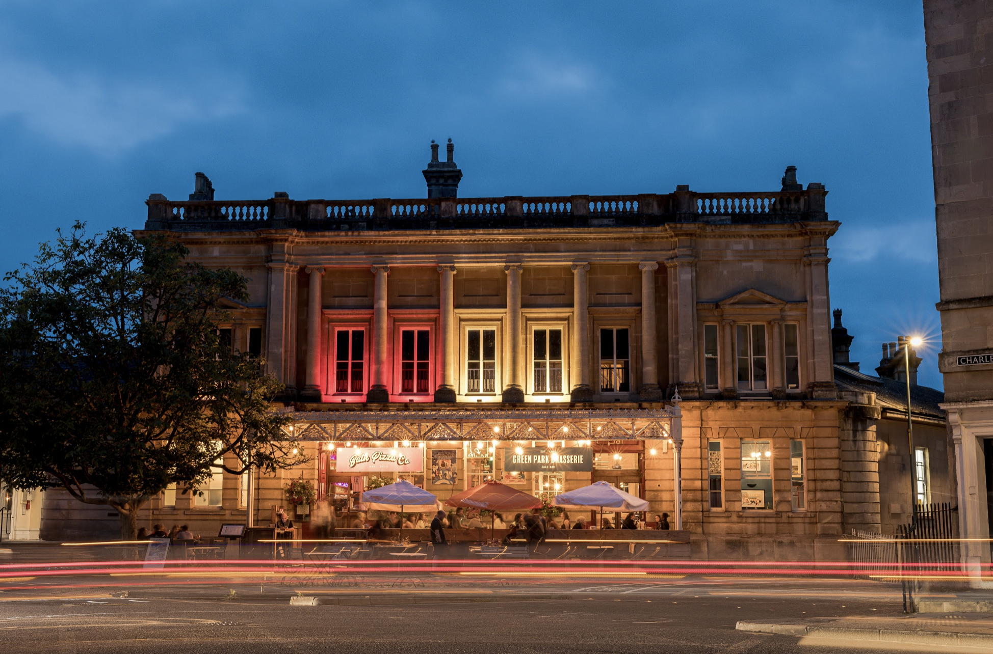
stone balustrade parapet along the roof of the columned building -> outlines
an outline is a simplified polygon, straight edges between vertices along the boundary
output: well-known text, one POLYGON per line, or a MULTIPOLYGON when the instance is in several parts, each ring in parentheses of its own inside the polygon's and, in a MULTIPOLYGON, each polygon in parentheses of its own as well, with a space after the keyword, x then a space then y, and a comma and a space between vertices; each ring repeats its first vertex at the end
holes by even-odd
POLYGON ((776 223, 826 220, 820 184, 803 191, 632 196, 502 196, 396 199, 146 200, 146 229, 305 231, 630 227, 670 222, 776 223))

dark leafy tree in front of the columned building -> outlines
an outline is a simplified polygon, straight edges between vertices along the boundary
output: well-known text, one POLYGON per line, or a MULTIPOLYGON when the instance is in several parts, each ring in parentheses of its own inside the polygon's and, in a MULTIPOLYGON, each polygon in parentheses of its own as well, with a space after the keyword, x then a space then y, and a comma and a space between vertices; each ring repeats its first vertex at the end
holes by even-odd
POLYGON ((0 289, 0 478, 61 486, 121 515, 170 483, 194 487, 218 467, 238 474, 303 462, 272 409, 282 386, 233 351, 224 299, 247 301, 229 269, 186 260, 181 243, 80 223, 44 243, 0 289), (231 464, 236 460, 236 464, 231 464))

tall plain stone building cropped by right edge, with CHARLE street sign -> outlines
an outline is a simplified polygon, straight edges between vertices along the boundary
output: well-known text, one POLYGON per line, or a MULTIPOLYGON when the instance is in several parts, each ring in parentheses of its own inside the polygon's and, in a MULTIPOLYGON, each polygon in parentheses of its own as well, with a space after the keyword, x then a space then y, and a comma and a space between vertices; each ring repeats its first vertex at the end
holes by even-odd
POLYGON ((990 562, 993 480, 993 9, 924 0, 948 426, 958 460, 962 556, 990 562))

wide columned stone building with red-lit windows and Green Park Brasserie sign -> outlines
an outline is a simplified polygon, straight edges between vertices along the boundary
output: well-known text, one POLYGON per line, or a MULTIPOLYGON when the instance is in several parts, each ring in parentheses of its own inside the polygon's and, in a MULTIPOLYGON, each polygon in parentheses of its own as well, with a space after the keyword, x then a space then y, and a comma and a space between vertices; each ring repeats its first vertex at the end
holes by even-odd
POLYGON ((215 200, 200 174, 189 200, 149 197, 139 233, 249 280, 224 328, 286 384, 313 462, 250 497, 226 474, 170 490, 148 522, 265 524, 299 478, 347 510, 374 473, 442 498, 607 480, 649 521, 681 491, 704 558, 838 559, 879 530, 877 445, 835 383, 822 185, 789 167, 768 193, 462 198, 451 143, 424 176, 426 199, 215 200), (373 451, 408 464, 349 467, 373 451))

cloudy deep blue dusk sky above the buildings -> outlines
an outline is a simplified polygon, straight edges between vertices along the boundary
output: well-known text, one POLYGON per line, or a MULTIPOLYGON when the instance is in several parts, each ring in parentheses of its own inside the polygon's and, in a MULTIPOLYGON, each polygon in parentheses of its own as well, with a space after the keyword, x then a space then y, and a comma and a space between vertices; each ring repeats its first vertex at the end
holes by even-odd
POLYGON ((831 304, 941 387, 920 2, 0 2, 0 267, 144 199, 778 191, 823 183, 831 304), (286 7, 284 4, 290 4, 286 7))

